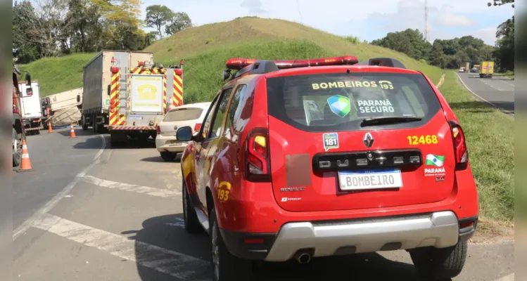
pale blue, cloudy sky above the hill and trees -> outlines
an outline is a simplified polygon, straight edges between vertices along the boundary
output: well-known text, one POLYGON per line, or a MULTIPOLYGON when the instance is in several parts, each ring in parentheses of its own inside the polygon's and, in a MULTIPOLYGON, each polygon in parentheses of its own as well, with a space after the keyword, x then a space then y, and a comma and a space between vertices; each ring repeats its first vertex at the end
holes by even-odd
MULTIPOLYGON (((514 15, 514 8, 510 4, 488 7, 487 3, 428 0, 428 41, 472 35, 494 45, 496 27, 514 15)), ((407 28, 424 32, 425 27, 424 0, 143 0, 143 16, 146 7, 155 4, 186 12, 195 25, 256 15, 367 41, 407 28)))

